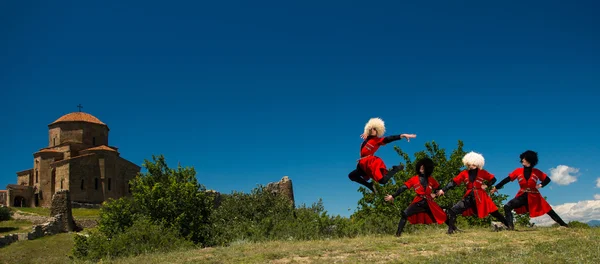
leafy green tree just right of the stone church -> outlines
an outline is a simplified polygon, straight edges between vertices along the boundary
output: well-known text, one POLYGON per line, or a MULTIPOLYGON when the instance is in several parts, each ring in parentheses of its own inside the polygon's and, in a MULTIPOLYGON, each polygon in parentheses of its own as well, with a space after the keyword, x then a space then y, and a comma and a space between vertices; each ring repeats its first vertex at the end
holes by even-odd
POLYGON ((210 238, 213 197, 198 183, 194 168, 169 168, 165 158, 145 160, 148 170, 131 181, 132 197, 107 202, 100 212, 99 229, 108 237, 123 232, 139 217, 174 228, 194 243, 210 238))

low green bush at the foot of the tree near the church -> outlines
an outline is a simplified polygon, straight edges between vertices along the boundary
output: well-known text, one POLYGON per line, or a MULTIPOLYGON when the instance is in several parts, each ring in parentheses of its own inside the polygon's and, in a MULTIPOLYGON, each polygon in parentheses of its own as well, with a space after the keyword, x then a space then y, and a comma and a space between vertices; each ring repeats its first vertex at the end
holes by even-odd
POLYGON ((92 261, 193 246, 176 229, 155 224, 143 217, 135 219, 130 227, 111 238, 102 231, 93 230, 88 236, 76 234, 74 240, 73 256, 92 261))

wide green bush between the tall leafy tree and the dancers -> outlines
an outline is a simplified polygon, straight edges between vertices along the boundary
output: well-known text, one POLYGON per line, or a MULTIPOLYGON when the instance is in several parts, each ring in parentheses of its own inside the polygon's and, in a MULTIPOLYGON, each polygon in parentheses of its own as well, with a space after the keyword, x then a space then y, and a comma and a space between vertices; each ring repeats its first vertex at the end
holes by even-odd
POLYGON ((258 186, 251 193, 224 195, 212 216, 213 244, 236 241, 310 240, 352 236, 348 218, 330 217, 322 201, 294 208, 290 201, 258 186))

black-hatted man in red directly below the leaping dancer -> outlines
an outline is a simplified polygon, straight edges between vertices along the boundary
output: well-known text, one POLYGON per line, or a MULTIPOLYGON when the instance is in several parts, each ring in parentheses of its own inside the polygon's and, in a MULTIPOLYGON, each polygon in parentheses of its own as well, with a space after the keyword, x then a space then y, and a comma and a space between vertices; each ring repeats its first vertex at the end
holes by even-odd
POLYGON ((411 188, 417 193, 412 203, 401 213, 402 217, 398 223, 396 236, 402 235, 407 220, 413 225, 446 222, 446 213, 433 200, 435 198, 434 190, 440 187, 440 184, 431 177, 434 166, 433 160, 430 158, 419 160, 415 166, 417 175, 406 181, 394 194, 384 198, 388 202, 394 202, 394 198, 411 188))

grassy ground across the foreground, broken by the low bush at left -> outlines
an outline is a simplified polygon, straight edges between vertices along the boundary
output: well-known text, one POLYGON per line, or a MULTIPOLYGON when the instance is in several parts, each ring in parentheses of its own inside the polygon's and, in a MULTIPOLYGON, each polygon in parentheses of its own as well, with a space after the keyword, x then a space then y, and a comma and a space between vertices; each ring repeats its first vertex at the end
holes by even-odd
MULTIPOLYGON (((153 253, 103 263, 600 263, 600 228, 492 232, 443 228, 315 241, 237 241, 229 247, 153 253)), ((72 234, 0 249, 0 263, 69 263, 72 234), (23 253, 29 252, 29 253, 23 253)))

